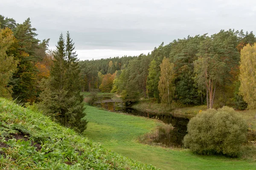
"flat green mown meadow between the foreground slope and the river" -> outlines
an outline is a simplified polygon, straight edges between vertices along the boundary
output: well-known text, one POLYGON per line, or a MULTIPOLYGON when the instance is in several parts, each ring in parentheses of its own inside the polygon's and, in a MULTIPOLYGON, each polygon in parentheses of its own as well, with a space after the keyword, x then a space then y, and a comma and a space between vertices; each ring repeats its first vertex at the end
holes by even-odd
POLYGON ((87 106, 88 128, 85 136, 107 149, 163 170, 254 170, 256 162, 223 156, 198 156, 189 150, 171 150, 137 142, 157 123, 152 119, 99 110, 87 106))

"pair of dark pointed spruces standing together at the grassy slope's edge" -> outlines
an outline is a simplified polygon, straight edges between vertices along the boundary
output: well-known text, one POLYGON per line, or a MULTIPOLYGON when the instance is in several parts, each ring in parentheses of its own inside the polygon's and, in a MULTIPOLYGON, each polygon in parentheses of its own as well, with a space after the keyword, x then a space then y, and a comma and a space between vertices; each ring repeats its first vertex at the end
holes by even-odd
POLYGON ((63 35, 60 35, 56 48, 50 78, 42 82, 42 107, 61 125, 83 132, 87 121, 83 119, 85 113, 80 95, 78 59, 69 33, 66 44, 63 35))

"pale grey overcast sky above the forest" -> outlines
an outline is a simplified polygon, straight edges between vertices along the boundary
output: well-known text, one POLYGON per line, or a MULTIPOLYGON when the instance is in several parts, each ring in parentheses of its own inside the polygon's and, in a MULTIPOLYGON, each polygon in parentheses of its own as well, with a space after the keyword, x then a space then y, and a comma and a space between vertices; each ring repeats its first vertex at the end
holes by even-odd
POLYGON ((17 23, 30 17, 50 48, 70 31, 81 60, 147 54, 221 29, 256 33, 256 0, 3 0, 0 14, 17 23))

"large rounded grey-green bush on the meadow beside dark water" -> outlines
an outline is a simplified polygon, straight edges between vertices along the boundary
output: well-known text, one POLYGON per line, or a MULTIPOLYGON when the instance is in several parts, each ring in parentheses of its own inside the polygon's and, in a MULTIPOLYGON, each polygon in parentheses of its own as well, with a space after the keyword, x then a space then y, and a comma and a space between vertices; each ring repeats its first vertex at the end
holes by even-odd
POLYGON ((198 154, 238 156, 246 142, 247 124, 232 108, 208 109, 192 118, 184 146, 198 154))

